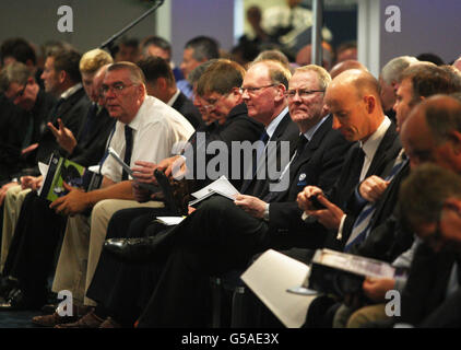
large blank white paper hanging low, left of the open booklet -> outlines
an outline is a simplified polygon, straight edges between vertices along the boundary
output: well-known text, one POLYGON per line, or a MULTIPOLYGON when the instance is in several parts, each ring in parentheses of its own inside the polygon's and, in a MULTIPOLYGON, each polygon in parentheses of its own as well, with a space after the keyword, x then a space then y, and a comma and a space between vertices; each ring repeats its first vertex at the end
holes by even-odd
POLYGON ((308 271, 307 265, 269 249, 240 278, 286 327, 299 328, 317 295, 298 295, 286 290, 302 285, 308 271))

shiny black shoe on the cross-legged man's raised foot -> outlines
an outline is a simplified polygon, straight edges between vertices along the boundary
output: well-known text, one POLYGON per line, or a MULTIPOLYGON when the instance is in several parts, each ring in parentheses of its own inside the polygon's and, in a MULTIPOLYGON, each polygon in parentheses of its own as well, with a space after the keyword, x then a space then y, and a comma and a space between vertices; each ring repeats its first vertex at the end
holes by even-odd
POLYGON ((119 260, 128 262, 145 262, 153 255, 152 237, 109 238, 103 248, 119 260))

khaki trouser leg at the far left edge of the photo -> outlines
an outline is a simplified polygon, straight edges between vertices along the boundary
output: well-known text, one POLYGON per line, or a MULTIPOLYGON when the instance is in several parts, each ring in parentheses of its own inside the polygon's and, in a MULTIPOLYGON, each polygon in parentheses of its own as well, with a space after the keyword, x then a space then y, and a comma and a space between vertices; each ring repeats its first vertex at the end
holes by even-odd
POLYGON ((10 250, 11 241, 13 240, 14 230, 16 228, 17 218, 20 217, 21 207, 25 196, 31 189, 21 189, 21 185, 13 186, 7 191, 3 202, 3 226, 1 236, 0 252, 0 272, 3 272, 4 262, 7 261, 8 252, 10 250))

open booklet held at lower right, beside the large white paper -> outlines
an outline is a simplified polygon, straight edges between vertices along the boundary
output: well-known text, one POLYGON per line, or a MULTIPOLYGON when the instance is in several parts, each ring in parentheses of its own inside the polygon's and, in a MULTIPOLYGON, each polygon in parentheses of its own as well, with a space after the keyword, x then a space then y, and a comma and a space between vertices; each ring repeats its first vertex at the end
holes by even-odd
POLYGON ((401 270, 386 261, 331 249, 318 249, 300 288, 288 291, 309 295, 311 290, 315 290, 342 298, 348 293, 359 293, 365 277, 393 279, 401 275, 401 270))

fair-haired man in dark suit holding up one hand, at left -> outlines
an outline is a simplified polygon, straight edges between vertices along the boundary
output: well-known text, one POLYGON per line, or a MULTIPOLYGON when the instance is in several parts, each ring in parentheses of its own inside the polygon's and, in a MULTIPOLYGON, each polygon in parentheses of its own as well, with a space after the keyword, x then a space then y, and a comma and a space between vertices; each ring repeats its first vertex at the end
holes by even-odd
MULTIPOLYGON (((59 129, 51 125, 58 143, 66 150, 69 159, 83 166, 96 165, 103 158, 115 125, 99 94, 107 69, 107 66, 102 67, 105 62, 110 63, 111 57, 99 49, 88 51, 82 57, 81 72, 85 80, 85 91, 93 104, 76 137, 62 122, 59 124, 59 129)), ((10 301, 15 303, 12 307, 35 307, 46 302, 46 279, 66 223, 63 217, 48 207, 49 202, 37 197, 36 191, 27 194, 21 213, 17 213, 19 223, 14 235, 13 232, 4 232, 9 240, 12 235, 12 242, 11 246, 9 242, 2 242, 2 265, 4 262, 5 266, 3 273, 19 279, 21 290, 21 293, 16 291, 16 300, 10 301)), ((3 240, 7 238, 5 235, 3 240)))

